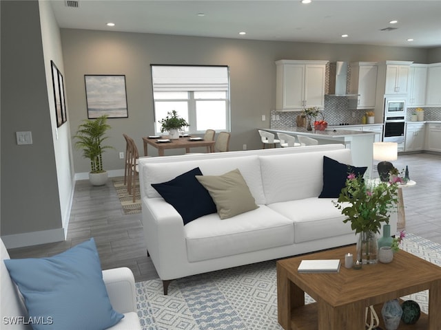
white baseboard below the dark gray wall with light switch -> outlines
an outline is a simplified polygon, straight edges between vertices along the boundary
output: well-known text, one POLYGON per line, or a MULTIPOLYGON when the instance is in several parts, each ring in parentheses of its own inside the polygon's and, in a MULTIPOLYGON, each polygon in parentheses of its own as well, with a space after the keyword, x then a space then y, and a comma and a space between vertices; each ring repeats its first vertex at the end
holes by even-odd
POLYGON ((21 234, 12 234, 1 236, 6 248, 22 248, 23 246, 39 245, 45 243, 54 243, 65 241, 64 229, 41 230, 39 232, 23 232, 21 234))

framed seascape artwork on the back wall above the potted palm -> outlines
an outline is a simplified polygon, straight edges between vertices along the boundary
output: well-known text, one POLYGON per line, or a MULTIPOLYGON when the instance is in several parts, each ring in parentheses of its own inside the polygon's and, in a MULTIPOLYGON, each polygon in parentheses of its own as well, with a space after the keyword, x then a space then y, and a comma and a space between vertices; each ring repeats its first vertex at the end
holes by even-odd
POLYGON ((128 118, 125 75, 84 75, 88 118, 128 118))

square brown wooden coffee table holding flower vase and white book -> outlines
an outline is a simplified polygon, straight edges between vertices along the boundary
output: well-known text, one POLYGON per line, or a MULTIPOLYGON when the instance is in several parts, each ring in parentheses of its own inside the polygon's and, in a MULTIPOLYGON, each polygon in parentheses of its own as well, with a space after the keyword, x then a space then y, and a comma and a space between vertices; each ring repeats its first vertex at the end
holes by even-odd
POLYGON ((277 261, 278 322, 283 329, 365 329, 365 309, 375 305, 380 326, 382 304, 429 290, 429 315, 398 329, 441 330, 441 267, 400 250, 389 264, 345 268, 345 254, 354 245, 277 261), (340 259, 338 274, 298 274, 302 259, 340 259), (316 303, 305 305, 305 292, 316 303), (432 312, 430 312, 432 311, 432 312))

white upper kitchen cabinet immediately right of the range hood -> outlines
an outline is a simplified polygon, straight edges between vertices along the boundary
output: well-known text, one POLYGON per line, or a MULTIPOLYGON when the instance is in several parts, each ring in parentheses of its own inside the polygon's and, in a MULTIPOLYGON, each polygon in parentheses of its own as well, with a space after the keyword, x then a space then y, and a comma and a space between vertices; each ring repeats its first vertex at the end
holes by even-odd
POLYGON ((358 94, 349 99, 351 109, 374 109, 376 104, 376 87, 378 67, 375 62, 353 62, 349 94, 358 94))

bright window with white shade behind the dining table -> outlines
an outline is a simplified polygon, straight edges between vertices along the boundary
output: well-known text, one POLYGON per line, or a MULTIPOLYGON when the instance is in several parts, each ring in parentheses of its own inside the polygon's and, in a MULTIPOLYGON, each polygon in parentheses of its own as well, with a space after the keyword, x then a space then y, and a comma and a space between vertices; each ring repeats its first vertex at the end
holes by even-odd
POLYGON ((229 131, 229 76, 225 66, 152 65, 155 132, 176 110, 191 133, 229 131))

